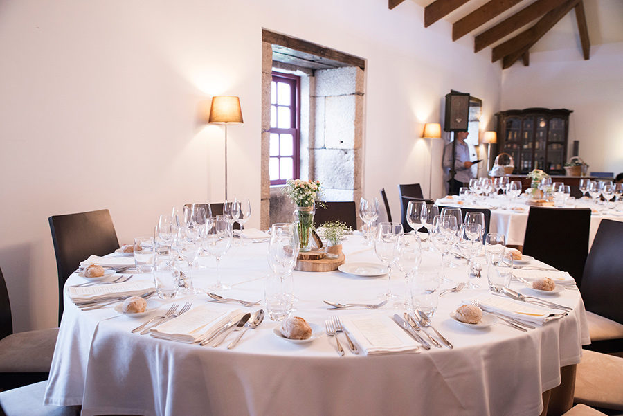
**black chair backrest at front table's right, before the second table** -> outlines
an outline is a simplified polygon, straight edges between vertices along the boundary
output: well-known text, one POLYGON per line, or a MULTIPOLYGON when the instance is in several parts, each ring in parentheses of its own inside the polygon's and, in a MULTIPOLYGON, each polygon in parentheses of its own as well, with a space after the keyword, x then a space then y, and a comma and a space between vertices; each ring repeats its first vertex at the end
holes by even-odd
POLYGON ((523 253, 567 271, 580 287, 588 255, 590 208, 530 207, 523 253))

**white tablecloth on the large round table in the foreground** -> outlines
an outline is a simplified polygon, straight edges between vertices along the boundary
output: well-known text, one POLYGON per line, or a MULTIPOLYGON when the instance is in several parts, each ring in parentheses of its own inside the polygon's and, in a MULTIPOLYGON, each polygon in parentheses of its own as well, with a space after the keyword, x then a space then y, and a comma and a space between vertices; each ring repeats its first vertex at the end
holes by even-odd
MULTIPOLYGON (((378 263, 363 237, 343 243, 347 262, 378 263)), ((423 264, 439 262, 424 253, 423 264)), ((455 282, 467 280, 464 260, 449 269, 455 282)), ((197 287, 215 282, 215 260, 201 257, 193 269, 197 287)), ((222 260, 222 280, 233 287, 219 292, 258 300, 269 273, 267 243, 233 247, 222 260)), ((392 273, 392 289, 404 293, 404 277, 392 273)), ((151 279, 148 274, 134 279, 151 279)), ((433 324, 453 343, 453 350, 419 349, 408 354, 338 356, 334 339, 323 334, 311 343, 294 344, 273 333, 266 318, 249 330, 233 350, 165 341, 130 330, 146 318, 117 314, 113 307, 80 311, 67 294, 45 403, 82 405, 82 415, 539 415, 542 393, 561 383, 561 367, 579 363, 588 344, 584 304, 576 290, 564 290, 554 302, 573 307, 568 316, 520 332, 498 323, 487 329, 466 328, 449 317, 462 300, 487 291, 464 289, 440 298, 433 324)), ((72 275, 67 285, 81 283, 72 275)), ((519 288, 518 282, 512 287, 519 288)), ((451 287, 453 284, 444 284, 451 287)), ((376 302, 387 287, 386 276, 365 278, 341 273, 294 271, 296 316, 323 324, 332 314, 402 314, 386 305, 378 310, 329 311, 323 300, 376 302)), ((67 287, 65 288, 67 293, 67 287)), ((153 298, 152 298, 153 299, 153 298)), ((207 296, 190 296, 163 304, 208 304, 207 296)), ((215 309, 231 304, 210 302, 215 309)), ((240 307, 243 311, 255 308, 240 307)))

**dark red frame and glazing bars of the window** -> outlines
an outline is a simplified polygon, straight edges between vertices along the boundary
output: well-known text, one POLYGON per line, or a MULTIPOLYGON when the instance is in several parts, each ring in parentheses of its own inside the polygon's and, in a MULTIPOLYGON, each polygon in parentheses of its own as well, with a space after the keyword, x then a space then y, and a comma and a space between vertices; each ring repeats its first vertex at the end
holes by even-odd
MULTIPOLYGON (((269 152, 269 166, 270 160, 272 158, 277 157, 278 160, 282 157, 284 158, 292 158, 292 179, 300 179, 300 77, 298 75, 293 75, 289 73, 281 73, 277 71, 273 71, 271 74, 271 94, 272 94, 272 82, 284 82, 290 85, 290 103, 289 106, 279 107, 289 107, 290 108, 290 120, 291 124, 294 123, 294 126, 291 125, 289 128, 279 128, 279 127, 271 127, 268 129, 269 135, 274 134, 291 134, 292 135, 292 156, 281 156, 281 150, 279 150, 278 156, 271 156, 269 152)), ((273 102, 271 100, 270 107, 273 107, 273 102)), ((271 120, 272 121, 272 120, 271 120)), ((270 143, 270 137, 269 137, 270 143)), ((281 146, 281 143, 280 143, 281 146)), ((281 163, 279 163, 280 177, 281 177, 281 163)), ((287 179, 274 179, 271 180, 271 186, 285 185, 287 179)))

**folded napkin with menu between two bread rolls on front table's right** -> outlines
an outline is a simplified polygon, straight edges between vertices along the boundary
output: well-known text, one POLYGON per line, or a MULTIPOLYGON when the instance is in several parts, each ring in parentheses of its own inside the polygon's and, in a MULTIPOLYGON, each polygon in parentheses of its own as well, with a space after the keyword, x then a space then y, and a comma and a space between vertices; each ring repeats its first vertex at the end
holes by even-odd
POLYGON ((507 298, 504 295, 482 293, 473 300, 480 305, 480 309, 483 311, 496 312, 535 325, 543 325, 550 320, 559 319, 566 315, 561 314, 558 309, 533 305, 521 300, 507 298))

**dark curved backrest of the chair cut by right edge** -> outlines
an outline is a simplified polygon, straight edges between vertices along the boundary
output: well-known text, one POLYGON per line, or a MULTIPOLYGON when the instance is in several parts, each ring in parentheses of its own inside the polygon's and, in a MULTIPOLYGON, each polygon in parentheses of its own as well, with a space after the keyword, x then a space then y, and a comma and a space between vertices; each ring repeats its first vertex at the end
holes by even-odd
POLYGON ((602 219, 586 257, 581 292, 588 311, 623 324, 621 247, 623 222, 602 219))

